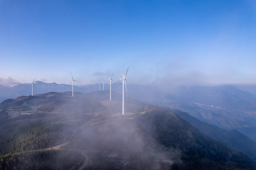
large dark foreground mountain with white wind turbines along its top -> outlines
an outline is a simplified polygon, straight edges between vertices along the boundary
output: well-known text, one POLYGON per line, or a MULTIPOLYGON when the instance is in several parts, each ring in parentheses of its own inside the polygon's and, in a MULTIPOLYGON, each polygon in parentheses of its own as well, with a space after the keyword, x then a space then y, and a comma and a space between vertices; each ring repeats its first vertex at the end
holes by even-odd
MULTIPOLYGON (((17 168, 14 158, 24 159, 15 154, 31 150, 25 157, 31 160, 36 154, 35 162, 43 157, 43 163, 61 151, 78 151, 79 161, 68 165, 79 169, 256 169, 247 155, 212 140, 172 110, 125 97, 122 115, 122 96, 113 92, 112 97, 110 102, 105 90, 5 100, 0 104, 0 154, 7 154, 1 157, 2 168, 17 168), (61 150, 45 150, 51 148, 61 150)), ((26 169, 33 169, 29 165, 26 169)))

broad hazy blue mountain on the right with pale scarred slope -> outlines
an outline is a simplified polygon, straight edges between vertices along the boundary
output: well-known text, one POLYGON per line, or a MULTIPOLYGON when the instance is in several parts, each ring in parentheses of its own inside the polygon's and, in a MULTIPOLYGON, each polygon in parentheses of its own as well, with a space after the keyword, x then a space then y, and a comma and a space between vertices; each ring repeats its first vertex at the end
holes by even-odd
POLYGON ((231 85, 179 87, 151 104, 171 107, 225 129, 236 129, 256 141, 256 95, 231 85))

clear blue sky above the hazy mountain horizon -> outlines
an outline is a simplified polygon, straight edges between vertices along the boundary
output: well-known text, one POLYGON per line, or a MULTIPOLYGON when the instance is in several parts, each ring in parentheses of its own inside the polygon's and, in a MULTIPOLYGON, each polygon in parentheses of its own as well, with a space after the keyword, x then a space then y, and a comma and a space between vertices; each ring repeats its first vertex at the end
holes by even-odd
POLYGON ((0 77, 256 84, 255 0, 0 0, 0 77))

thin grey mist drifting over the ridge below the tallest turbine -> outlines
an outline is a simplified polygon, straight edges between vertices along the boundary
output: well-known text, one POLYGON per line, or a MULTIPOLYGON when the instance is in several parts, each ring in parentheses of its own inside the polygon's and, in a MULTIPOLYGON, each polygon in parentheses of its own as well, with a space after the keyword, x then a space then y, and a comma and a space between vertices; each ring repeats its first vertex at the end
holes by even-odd
POLYGON ((113 164, 118 169, 182 166, 181 151, 160 144, 154 125, 143 122, 141 116, 147 104, 127 98, 125 115, 121 115, 121 95, 113 92, 112 96, 110 102, 109 90, 90 94, 76 92, 74 97, 62 97, 37 110, 53 114, 45 120, 62 117, 62 136, 66 140, 61 148, 81 152, 88 159, 89 168, 108 169, 113 164))

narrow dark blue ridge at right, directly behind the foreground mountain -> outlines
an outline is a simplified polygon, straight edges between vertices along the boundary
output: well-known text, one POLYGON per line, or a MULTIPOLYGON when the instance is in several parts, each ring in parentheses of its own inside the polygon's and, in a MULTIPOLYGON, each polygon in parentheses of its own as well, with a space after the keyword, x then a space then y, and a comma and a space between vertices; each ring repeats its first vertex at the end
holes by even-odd
POLYGON ((256 143, 246 135, 243 135, 237 130, 226 130, 219 128, 218 126, 202 122, 186 112, 175 109, 171 110, 179 115, 179 117, 193 125, 195 128, 199 129, 205 135, 224 143, 234 150, 246 153, 246 155, 250 156, 254 161, 256 161, 256 143))

